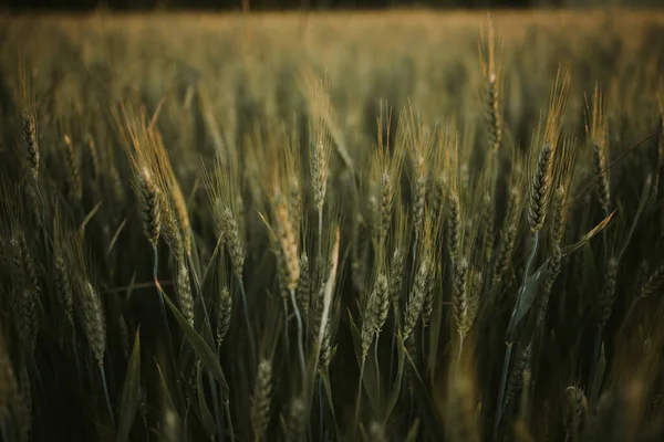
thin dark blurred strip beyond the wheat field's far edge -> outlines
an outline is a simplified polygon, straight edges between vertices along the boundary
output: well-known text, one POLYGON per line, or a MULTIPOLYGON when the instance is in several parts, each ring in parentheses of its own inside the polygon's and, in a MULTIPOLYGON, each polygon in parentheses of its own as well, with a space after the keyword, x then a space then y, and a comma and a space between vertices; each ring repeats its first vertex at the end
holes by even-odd
POLYGON ((2 0, 0 8, 21 10, 250 10, 279 11, 293 9, 385 9, 385 8, 575 8, 575 7, 656 7, 662 0, 2 0), (246 1, 245 4, 243 1, 246 1), (248 3, 248 4, 247 4, 248 3))

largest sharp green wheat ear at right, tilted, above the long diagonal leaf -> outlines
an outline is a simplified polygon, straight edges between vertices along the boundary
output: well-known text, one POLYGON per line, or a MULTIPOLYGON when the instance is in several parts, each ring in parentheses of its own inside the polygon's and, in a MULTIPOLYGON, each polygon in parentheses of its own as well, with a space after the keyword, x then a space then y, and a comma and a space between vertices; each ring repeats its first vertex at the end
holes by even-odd
POLYGON ((530 185, 530 204, 528 208, 528 223, 532 233, 544 225, 547 208, 549 204, 552 182, 553 148, 546 144, 540 151, 537 169, 530 185))

